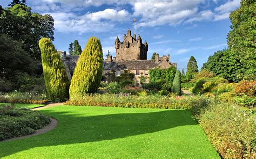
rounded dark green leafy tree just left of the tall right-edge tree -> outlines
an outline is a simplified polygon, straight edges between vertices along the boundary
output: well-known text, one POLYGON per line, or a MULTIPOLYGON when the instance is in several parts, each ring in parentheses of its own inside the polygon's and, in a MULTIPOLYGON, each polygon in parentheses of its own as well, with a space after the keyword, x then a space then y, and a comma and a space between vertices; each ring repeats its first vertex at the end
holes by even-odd
POLYGON ((208 57, 202 69, 208 69, 217 76, 238 82, 245 71, 240 57, 230 49, 219 50, 213 56, 208 57))

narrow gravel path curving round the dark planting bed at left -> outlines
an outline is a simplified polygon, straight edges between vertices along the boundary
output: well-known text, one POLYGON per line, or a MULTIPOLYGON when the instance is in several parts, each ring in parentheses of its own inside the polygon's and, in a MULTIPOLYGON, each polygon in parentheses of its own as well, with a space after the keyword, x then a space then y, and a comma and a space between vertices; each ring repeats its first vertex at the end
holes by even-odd
MULTIPOLYGON (((48 107, 59 106, 59 105, 63 105, 63 103, 52 103, 52 104, 48 104, 48 105, 45 105, 45 106, 42 106, 42 107, 34 108, 32 110, 41 110, 41 109, 46 109, 48 107)), ((51 131, 53 128, 55 128, 58 125, 58 121, 56 119, 53 119, 53 118, 50 118, 50 119, 51 119, 50 124, 46 125, 42 129, 36 130, 35 133, 33 133, 33 134, 25 135, 25 136, 20 136, 20 137, 17 137, 17 138, 6 139, 6 140, 0 141, 0 142, 12 141, 12 140, 18 140, 18 139, 24 139, 24 138, 30 138, 32 136, 37 136, 37 135, 49 132, 49 131, 51 131)))

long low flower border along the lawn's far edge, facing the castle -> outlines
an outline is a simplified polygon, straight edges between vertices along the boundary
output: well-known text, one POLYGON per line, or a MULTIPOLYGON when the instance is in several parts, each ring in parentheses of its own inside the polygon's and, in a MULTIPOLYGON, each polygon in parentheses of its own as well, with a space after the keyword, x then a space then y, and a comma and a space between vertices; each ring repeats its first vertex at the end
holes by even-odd
POLYGON ((89 105, 108 107, 140 107, 140 108, 161 108, 161 109, 191 109, 192 107, 205 104, 205 97, 174 97, 146 95, 146 96, 123 96, 122 94, 86 95, 83 97, 73 97, 66 101, 65 105, 89 105), (201 100, 200 100, 201 99, 201 100))

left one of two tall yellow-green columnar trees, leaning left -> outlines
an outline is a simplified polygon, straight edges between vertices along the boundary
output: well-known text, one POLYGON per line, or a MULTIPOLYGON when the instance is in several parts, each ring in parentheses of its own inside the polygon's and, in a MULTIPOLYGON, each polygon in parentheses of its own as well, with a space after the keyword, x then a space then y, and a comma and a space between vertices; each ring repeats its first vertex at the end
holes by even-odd
POLYGON ((39 48, 47 95, 52 102, 62 102, 69 98, 70 85, 64 64, 49 38, 42 38, 39 41, 39 48))

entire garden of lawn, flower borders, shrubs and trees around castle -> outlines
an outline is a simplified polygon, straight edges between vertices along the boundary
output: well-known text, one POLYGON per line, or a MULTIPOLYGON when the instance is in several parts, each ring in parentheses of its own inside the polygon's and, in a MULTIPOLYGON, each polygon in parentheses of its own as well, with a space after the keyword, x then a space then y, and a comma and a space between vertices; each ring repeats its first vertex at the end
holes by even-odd
POLYGON ((1 158, 256 157, 255 28, 244 28, 252 25, 248 15, 255 2, 243 1, 231 13, 228 48, 210 56, 201 70, 191 56, 186 73, 150 69, 149 82, 139 76, 140 86, 129 70, 103 75, 96 37, 75 53, 80 56, 70 81, 52 43, 52 17, 17 3, 0 11, 1 24, 15 26, 10 19, 16 19, 26 33, 19 37, 22 28, 0 27, 1 158), (60 104, 45 106, 51 103, 60 104), (51 118, 57 127, 26 138, 51 118))

